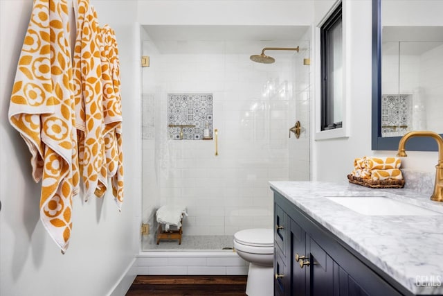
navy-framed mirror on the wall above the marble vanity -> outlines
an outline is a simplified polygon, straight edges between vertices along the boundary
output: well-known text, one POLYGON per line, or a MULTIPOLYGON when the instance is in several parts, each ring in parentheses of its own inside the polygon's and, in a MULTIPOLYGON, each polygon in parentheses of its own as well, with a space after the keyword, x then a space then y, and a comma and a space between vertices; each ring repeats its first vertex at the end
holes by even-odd
MULTIPOLYGON (((442 9, 443 0, 372 0, 372 150, 397 150, 411 130, 443 132, 442 9)), ((437 143, 413 138, 406 150, 437 143)))

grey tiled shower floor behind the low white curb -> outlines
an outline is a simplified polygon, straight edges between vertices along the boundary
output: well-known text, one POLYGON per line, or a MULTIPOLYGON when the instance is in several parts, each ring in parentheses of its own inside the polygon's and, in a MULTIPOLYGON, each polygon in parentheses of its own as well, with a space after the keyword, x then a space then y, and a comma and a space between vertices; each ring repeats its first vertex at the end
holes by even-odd
POLYGON ((156 244, 156 239, 143 240, 143 250, 224 250, 232 252, 234 247, 234 236, 185 236, 181 238, 181 245, 178 240, 161 240, 156 244), (226 249, 225 249, 226 250, 226 249))

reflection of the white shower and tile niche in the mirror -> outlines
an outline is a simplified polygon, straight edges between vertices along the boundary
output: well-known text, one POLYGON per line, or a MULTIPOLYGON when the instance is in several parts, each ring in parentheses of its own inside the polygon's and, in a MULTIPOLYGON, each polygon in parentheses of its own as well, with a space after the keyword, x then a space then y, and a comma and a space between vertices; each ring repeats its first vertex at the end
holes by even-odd
POLYGON ((381 32, 381 136, 443 132, 443 27, 382 26, 381 32))

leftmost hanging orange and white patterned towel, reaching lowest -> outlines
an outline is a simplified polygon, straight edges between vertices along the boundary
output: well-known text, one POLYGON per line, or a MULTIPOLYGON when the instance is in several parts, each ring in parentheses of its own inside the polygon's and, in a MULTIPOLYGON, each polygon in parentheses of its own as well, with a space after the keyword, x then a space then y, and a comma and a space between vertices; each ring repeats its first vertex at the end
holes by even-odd
POLYGON ((65 252, 78 185, 69 15, 66 0, 35 0, 17 66, 9 120, 28 145, 40 219, 65 252))

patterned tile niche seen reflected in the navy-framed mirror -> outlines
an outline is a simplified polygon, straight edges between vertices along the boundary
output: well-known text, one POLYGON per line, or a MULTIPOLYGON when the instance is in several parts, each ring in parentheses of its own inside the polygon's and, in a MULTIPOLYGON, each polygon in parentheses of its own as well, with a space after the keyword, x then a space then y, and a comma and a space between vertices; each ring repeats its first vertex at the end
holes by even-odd
POLYGON ((401 136, 408 131, 410 95, 383 94, 381 96, 382 137, 401 136))

